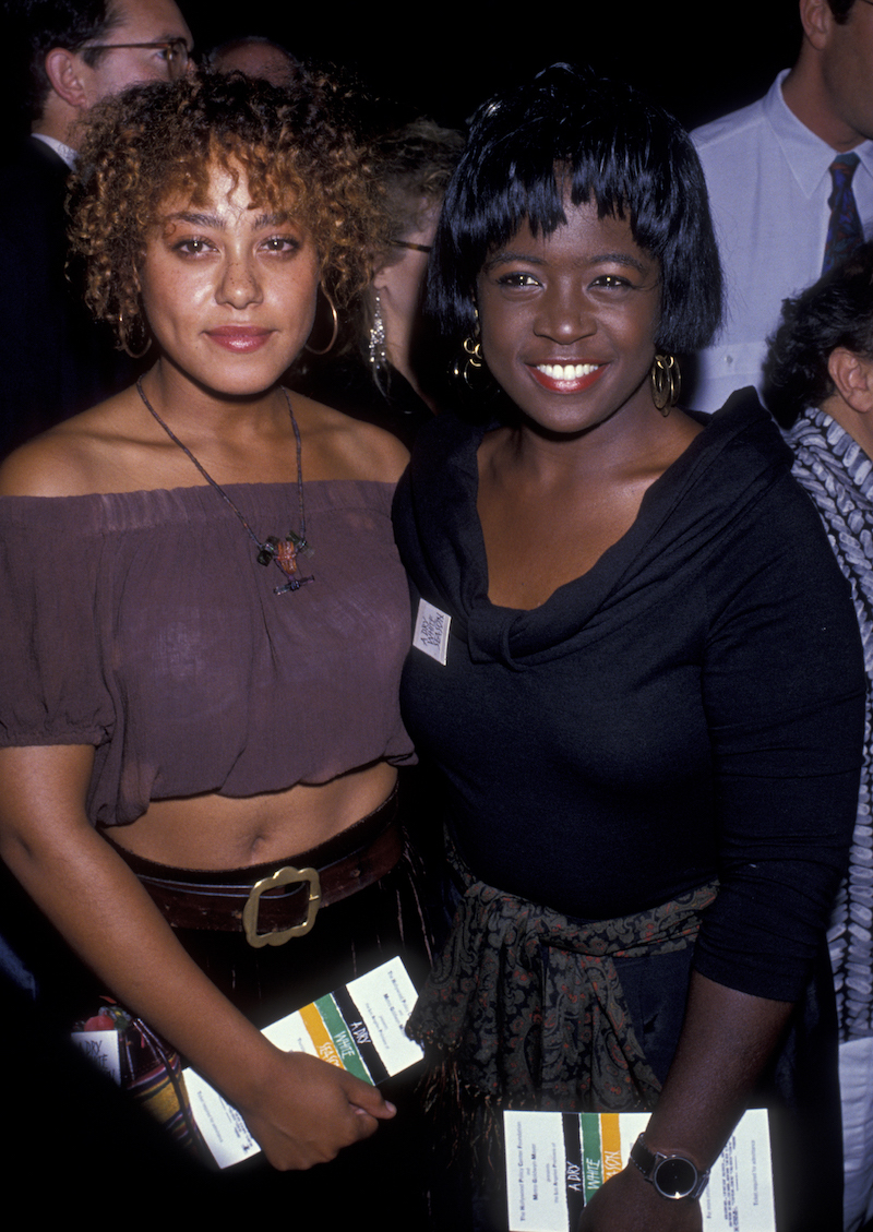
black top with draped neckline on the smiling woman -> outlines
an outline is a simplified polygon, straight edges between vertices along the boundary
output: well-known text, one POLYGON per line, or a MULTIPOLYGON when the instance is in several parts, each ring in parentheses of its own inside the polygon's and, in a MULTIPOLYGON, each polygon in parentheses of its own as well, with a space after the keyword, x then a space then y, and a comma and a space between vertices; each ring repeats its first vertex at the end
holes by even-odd
POLYGON ((541 607, 488 600, 483 429, 440 416, 394 503, 447 662, 414 648, 406 726, 481 880, 586 920, 720 882, 697 970, 792 1000, 845 867, 864 675, 848 590, 757 399, 728 403, 637 521, 541 607))

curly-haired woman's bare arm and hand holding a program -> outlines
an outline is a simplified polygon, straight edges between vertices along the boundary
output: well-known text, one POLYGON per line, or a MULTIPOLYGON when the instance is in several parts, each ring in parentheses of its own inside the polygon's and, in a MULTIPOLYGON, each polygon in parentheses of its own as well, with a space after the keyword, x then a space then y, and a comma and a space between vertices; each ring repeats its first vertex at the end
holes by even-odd
POLYGON ((268 1044, 89 823, 92 759, 80 745, 0 750, 0 855, 12 872, 107 988, 239 1108, 273 1167, 310 1168, 369 1137, 392 1105, 345 1071, 268 1044))

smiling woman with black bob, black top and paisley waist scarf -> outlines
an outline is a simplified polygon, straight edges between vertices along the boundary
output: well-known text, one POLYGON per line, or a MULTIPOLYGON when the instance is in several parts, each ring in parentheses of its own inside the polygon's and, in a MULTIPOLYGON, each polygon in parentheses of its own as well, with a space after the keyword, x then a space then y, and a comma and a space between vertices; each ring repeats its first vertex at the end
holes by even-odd
MULTIPOLYGON (((855 816, 863 671, 821 526, 751 391, 676 407, 720 287, 697 156, 658 107, 554 65, 477 113, 430 299, 500 400, 427 425, 394 501, 401 703, 445 787, 454 912, 409 1031, 470 1140, 501 1108, 651 1111, 585 1232, 701 1227, 855 816)), ((832 1138, 798 1167, 802 1125, 784 1232, 839 1220, 832 1138)), ((458 1226, 505 1227, 462 1190, 458 1226)))

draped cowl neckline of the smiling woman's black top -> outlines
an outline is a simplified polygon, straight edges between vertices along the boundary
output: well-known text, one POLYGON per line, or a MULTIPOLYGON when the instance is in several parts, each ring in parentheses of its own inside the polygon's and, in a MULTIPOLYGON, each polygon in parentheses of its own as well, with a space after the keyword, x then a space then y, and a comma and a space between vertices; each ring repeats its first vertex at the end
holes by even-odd
POLYGON ((683 453, 646 490, 627 531, 584 575, 539 607, 501 607, 488 598, 488 563, 477 511, 477 452, 496 425, 472 426, 440 415, 421 434, 398 488, 395 516, 401 557, 420 593, 452 616, 452 630, 474 662, 516 670, 575 653, 637 618, 690 559, 717 551, 730 517, 791 468, 782 441, 754 389, 735 393, 683 453), (757 467, 749 464, 750 447, 757 467), (424 546, 426 545, 426 547, 424 546))

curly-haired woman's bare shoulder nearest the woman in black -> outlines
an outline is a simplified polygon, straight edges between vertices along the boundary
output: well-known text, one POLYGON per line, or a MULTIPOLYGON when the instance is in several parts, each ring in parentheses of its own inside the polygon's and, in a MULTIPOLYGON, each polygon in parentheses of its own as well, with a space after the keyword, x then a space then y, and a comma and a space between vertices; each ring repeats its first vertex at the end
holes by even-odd
POLYGON ((396 483, 409 451, 390 432, 342 411, 294 395, 294 413, 304 437, 303 471, 308 479, 374 479, 396 483))

